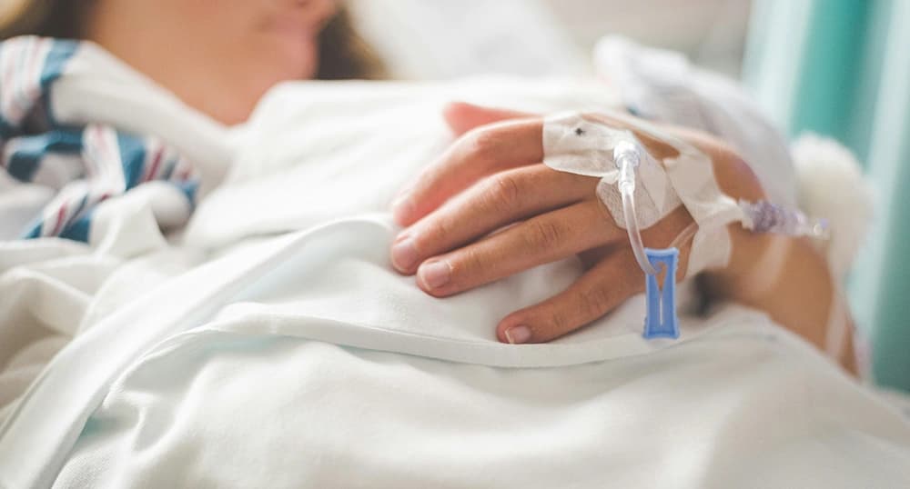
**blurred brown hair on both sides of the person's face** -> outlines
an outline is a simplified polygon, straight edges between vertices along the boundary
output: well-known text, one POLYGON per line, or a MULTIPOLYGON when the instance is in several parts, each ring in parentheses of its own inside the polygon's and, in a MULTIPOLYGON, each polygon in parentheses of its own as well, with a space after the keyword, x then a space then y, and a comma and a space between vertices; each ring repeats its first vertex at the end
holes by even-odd
MULTIPOLYGON (((16 35, 81 39, 81 18, 91 0, 0 0, 0 40, 16 35)), ((357 34, 348 9, 339 13, 319 35, 320 80, 379 79, 386 76, 379 56, 357 34)))

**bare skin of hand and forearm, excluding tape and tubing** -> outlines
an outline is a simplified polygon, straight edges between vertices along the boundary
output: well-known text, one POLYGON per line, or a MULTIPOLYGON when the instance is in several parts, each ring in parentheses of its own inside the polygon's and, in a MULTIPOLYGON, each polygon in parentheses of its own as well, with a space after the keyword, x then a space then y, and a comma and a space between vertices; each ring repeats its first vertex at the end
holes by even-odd
MULTIPOLYGON (((598 180, 541 164, 540 116, 466 104, 450 105, 445 116, 459 138, 393 205, 404 227, 390 252, 400 273, 416 275, 427 294, 447 297, 539 264, 581 257, 586 272, 567 290, 501 320, 496 334, 507 343, 547 342, 571 333, 644 290, 625 231, 595 195, 598 180)), ((749 165, 722 141, 684 128, 664 129, 711 158, 726 195, 764 198, 749 165)), ((673 155, 669 145, 638 136, 652 155, 673 155)), ((647 246, 666 247, 692 223, 680 207, 642 238, 647 246)), ((731 262, 704 274, 708 292, 714 299, 763 309, 823 348, 834 294, 824 257, 802 238, 754 235, 736 224, 728 232, 731 262)), ((689 248, 680 250, 677 280, 684 276, 689 248)), ((852 348, 846 346, 842 363, 854 372, 853 355, 847 353, 852 348)))

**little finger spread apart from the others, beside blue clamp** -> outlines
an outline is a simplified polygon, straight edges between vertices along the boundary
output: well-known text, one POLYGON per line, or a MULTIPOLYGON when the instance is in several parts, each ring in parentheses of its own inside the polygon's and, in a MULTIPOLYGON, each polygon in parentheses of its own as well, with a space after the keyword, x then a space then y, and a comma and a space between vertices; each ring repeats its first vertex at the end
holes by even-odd
POLYGON ((563 291, 506 316, 496 328, 503 343, 543 343, 571 333, 644 290, 644 275, 632 250, 622 248, 563 291))

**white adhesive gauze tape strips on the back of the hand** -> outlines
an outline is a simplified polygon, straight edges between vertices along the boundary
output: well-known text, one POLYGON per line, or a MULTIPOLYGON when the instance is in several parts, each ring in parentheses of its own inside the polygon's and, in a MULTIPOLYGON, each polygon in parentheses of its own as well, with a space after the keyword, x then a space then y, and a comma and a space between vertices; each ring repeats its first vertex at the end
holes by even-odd
POLYGON ((609 116, 669 145, 676 155, 658 160, 644 150, 631 131, 608 125, 596 115, 571 113, 544 119, 544 165, 561 172, 600 178, 597 195, 616 225, 624 229, 622 195, 616 185, 619 168, 613 161, 613 148, 621 141, 632 141, 642 148, 633 194, 639 227, 651 227, 684 205, 698 225, 686 274, 728 264, 731 244, 726 225, 743 221, 744 215, 740 206, 717 185, 711 159, 693 145, 663 134, 646 122, 612 112, 609 116))

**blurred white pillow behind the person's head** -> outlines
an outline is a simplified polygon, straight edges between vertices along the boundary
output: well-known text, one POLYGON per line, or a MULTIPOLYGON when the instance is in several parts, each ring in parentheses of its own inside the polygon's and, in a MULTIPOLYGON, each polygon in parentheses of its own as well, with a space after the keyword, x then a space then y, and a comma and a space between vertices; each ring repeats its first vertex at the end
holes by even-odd
POLYGON ((584 75, 589 55, 541 0, 351 0, 360 35, 391 75, 584 75))

